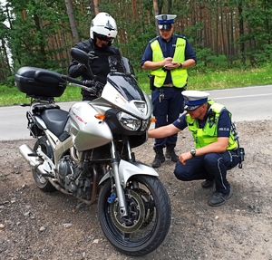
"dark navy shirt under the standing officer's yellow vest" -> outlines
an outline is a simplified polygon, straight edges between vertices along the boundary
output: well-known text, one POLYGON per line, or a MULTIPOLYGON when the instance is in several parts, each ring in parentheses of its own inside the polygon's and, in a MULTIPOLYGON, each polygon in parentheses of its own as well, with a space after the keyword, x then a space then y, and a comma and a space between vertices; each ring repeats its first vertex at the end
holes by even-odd
MULTIPOLYGON (((152 39, 146 49, 145 52, 142 55, 141 58, 141 66, 143 65, 143 63, 145 63, 146 61, 151 61, 152 62, 152 49, 151 49, 151 43, 154 40, 158 40, 160 43, 160 49, 163 53, 163 57, 162 58, 167 58, 167 57, 173 57, 174 56, 174 52, 175 52, 175 48, 176 48, 176 42, 177 42, 177 38, 183 38, 186 40, 186 46, 185 46, 185 60, 188 59, 193 59, 195 60, 195 62, 197 63, 197 57, 196 57, 196 53, 194 52, 194 50, 192 49, 191 45, 189 44, 189 41, 187 40, 186 37, 182 36, 182 35, 178 35, 178 34, 172 34, 172 37, 170 38, 170 41, 167 42, 165 41, 161 36, 158 36, 154 39, 152 39)), ((176 61, 174 61, 176 62, 176 61)), ((171 76, 170 76, 170 71, 167 72, 167 77, 166 80, 164 82, 165 84, 168 83, 172 83, 171 80, 171 76)))

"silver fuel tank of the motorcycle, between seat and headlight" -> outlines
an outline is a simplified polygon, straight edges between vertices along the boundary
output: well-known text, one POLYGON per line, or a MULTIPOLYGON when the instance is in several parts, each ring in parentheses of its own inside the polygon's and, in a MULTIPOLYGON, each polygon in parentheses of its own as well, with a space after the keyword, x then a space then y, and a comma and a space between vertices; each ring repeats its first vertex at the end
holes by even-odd
POLYGON ((85 101, 76 102, 70 108, 65 131, 73 137, 76 149, 83 151, 109 143, 112 131, 107 123, 95 118, 99 114, 92 105, 85 101))

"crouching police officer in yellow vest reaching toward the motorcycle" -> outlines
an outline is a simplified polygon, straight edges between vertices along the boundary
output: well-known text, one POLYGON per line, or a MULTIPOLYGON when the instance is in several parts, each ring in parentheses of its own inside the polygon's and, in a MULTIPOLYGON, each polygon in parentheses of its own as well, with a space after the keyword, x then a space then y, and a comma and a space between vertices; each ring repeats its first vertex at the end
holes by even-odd
POLYGON ((149 130, 150 138, 163 138, 184 130, 192 132, 195 148, 181 153, 174 174, 183 181, 205 179, 202 188, 215 184, 209 206, 217 207, 231 197, 227 170, 241 163, 238 135, 231 113, 216 101, 208 100, 205 91, 182 91, 184 113, 172 124, 149 130))

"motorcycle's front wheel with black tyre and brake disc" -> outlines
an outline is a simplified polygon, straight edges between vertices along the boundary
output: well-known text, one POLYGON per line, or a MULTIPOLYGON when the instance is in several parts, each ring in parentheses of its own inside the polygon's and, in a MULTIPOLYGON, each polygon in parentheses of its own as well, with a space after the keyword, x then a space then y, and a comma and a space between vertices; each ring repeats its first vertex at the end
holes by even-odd
POLYGON ((126 217, 121 217, 118 199, 112 202, 112 191, 112 182, 108 179, 98 199, 98 215, 104 235, 123 254, 141 256, 151 253, 160 246, 170 228, 170 198, 160 179, 145 175, 130 178, 124 190, 126 217))

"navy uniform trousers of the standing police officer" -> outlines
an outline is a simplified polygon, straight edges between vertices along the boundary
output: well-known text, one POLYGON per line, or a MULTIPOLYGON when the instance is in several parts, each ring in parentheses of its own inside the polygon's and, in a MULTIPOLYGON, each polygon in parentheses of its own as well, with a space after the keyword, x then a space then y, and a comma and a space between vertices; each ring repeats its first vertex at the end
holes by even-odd
MULTIPOLYGON (((156 118, 155 128, 169 125, 180 117, 183 112, 183 96, 181 91, 184 89, 175 87, 156 88, 151 92, 153 103, 153 115, 156 118)), ((155 139, 153 149, 163 149, 165 147, 175 147, 178 134, 166 138, 155 139)))

